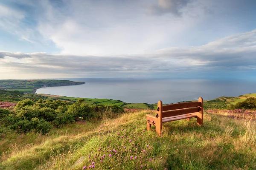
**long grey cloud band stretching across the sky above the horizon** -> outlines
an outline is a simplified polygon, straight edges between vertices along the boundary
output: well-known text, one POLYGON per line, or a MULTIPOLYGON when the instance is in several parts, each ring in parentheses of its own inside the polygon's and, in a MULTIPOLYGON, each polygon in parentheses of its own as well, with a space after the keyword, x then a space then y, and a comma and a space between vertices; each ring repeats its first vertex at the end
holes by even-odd
POLYGON ((255 40, 256 30, 253 30, 200 46, 172 47, 151 53, 122 56, 23 54, 1 51, 0 66, 2 69, 19 74, 34 73, 69 77, 254 71, 256 69, 255 40))

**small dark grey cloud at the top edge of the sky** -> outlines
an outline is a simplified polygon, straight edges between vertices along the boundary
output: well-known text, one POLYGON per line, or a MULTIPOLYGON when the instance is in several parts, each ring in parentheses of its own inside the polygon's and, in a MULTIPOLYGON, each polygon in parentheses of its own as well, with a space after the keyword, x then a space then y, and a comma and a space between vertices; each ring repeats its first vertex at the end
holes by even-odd
POLYGON ((180 9, 185 7, 191 0, 157 0, 157 4, 148 5, 146 12, 148 14, 162 15, 172 13, 180 16, 180 9))

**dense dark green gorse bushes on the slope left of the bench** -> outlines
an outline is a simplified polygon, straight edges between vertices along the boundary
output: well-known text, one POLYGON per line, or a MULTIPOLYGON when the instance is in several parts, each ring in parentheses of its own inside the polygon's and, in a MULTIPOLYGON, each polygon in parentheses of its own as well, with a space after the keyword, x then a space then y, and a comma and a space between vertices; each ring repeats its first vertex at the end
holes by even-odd
POLYGON ((34 131, 45 134, 52 126, 61 127, 79 118, 83 120, 102 119, 102 116, 107 116, 110 111, 115 114, 123 111, 116 105, 89 106, 84 103, 84 100, 71 104, 49 99, 39 99, 37 102, 25 99, 18 102, 14 109, 15 111, 0 109, 0 135, 10 130, 17 133, 34 131))

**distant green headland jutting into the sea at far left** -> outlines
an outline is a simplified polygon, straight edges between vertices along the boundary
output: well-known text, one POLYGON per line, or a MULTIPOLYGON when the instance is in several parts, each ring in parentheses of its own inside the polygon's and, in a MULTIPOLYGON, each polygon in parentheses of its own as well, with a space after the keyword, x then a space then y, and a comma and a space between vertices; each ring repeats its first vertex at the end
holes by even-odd
POLYGON ((24 93, 35 93, 36 89, 42 87, 63 86, 63 85, 81 85, 84 82, 73 82, 69 80, 0 80, 0 89, 10 91, 21 91, 24 93))

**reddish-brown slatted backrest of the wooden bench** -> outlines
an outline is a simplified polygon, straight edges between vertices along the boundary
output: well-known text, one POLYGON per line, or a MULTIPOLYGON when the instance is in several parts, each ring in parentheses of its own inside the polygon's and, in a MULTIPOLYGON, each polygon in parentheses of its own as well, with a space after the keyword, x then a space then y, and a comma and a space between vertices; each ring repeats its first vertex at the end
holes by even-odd
POLYGON ((198 99, 198 102, 182 102, 163 106, 162 101, 159 101, 157 104, 158 116, 162 118, 202 111, 203 99, 201 97, 198 99))

